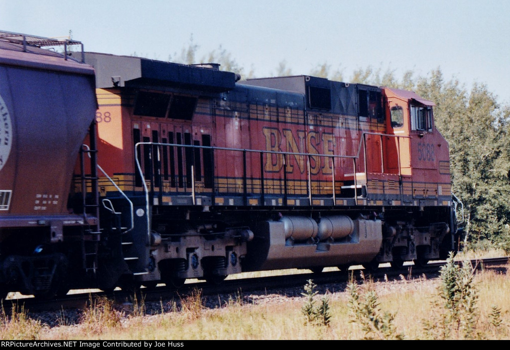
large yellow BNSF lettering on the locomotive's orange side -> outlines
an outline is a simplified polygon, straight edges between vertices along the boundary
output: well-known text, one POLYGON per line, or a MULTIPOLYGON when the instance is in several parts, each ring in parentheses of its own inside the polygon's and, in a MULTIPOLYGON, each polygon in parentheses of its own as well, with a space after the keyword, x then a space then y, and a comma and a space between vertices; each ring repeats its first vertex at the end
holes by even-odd
MULTIPOLYGON (((317 175, 333 174, 333 159, 314 154, 334 154, 335 138, 333 133, 304 130, 293 131, 290 129, 279 130, 273 127, 263 128, 266 140, 266 150, 272 152, 310 153, 310 172, 317 175)), ((287 173, 293 173, 295 167, 303 174, 307 168, 307 157, 304 155, 289 155, 287 157, 287 173)), ((268 154, 264 164, 266 172, 279 172, 284 166, 283 154, 268 154)))

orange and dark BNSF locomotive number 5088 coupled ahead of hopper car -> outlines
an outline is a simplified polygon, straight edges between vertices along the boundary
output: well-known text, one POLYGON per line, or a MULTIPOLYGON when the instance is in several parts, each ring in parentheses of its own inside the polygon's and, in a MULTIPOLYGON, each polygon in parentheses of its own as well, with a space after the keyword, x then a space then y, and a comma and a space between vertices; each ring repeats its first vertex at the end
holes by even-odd
POLYGON ((455 250, 448 144, 431 101, 312 76, 239 82, 217 65, 85 61, 110 176, 99 179, 101 228, 122 247, 115 273, 115 259, 99 261, 102 288, 423 264, 455 250))

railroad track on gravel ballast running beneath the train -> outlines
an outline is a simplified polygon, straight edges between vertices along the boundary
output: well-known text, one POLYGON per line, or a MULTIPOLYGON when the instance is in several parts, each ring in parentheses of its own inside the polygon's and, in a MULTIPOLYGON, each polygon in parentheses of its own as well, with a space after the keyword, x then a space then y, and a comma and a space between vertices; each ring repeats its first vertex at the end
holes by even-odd
MULTIPOLYGON (((471 260, 471 265, 476 270, 490 268, 494 266, 506 266, 509 263, 508 257, 488 258, 481 260, 471 260)), ((242 278, 225 280, 219 285, 211 285, 207 282, 186 283, 179 290, 172 290, 165 285, 159 285, 153 289, 142 288, 138 298, 143 298, 145 302, 161 302, 161 301, 179 301, 184 295, 188 295, 193 290, 200 289, 203 296, 217 296, 242 293, 287 293, 287 289, 303 286, 308 280, 313 280, 317 285, 337 285, 337 288, 344 288, 344 284, 349 281, 349 276, 360 279, 361 272, 365 278, 377 281, 394 280, 394 279, 411 279, 417 276, 425 276, 427 279, 437 278, 440 275, 441 266, 445 261, 430 262, 425 266, 417 266, 411 264, 403 265, 400 268, 381 267, 375 271, 368 271, 362 266, 352 266, 346 271, 328 271, 322 273, 298 273, 283 276, 269 276, 258 278, 242 278)), ((462 264, 462 262, 457 262, 462 264)), ((64 309, 83 309, 93 298, 106 297, 114 300, 115 303, 125 304, 131 303, 134 294, 128 294, 122 290, 115 290, 113 293, 82 291, 65 295, 65 297, 43 301, 36 298, 18 298, 4 300, 3 305, 6 312, 10 312, 11 305, 23 306, 25 310, 30 312, 59 311, 64 309)), ((141 300, 141 299, 139 299, 141 300)))

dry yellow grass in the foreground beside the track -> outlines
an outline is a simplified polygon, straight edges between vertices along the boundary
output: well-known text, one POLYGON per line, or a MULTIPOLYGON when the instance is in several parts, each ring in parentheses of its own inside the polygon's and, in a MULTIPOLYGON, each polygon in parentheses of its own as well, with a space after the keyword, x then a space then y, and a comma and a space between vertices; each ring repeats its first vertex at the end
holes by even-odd
MULTIPOLYGON (((497 253, 496 253, 497 254, 497 253)), ((462 256, 463 258, 477 258, 462 256)), ((485 256, 484 256, 485 257, 485 256)), ((458 258, 458 257, 457 257, 458 258)), ((478 290, 477 315, 474 334, 480 339, 508 339, 510 337, 510 276, 507 269, 484 270, 476 275, 478 290)), ((285 271, 283 274, 287 274, 285 271)), ((300 271, 296 271, 300 273, 300 271)), ((308 270, 303 271, 308 273, 308 270)), ((254 273, 255 274, 255 273, 254 273)), ((258 273, 262 274, 262 273, 258 273)), ((426 321, 438 318, 441 303, 438 293, 440 281, 402 276, 397 281, 374 282, 363 272, 355 276, 360 293, 373 291, 381 315, 394 316, 392 325, 405 339, 426 339, 426 321), (436 303, 435 303, 436 302, 436 303)), ((303 279, 303 286, 307 283, 303 279)), ((334 289, 341 289, 336 286, 334 289)), ((317 295, 320 298, 322 295, 317 295)), ((220 307, 205 307, 201 290, 181 295, 170 307, 161 305, 156 315, 145 314, 144 300, 133 300, 130 310, 118 310, 107 299, 90 300, 83 310, 79 325, 49 329, 30 319, 21 310, 7 317, 0 315, 2 339, 125 339, 125 340, 338 340, 363 339, 366 334, 349 322, 348 293, 328 293, 330 322, 328 326, 307 323, 302 306, 304 297, 285 295, 233 295, 220 307), (261 301, 262 300, 262 301, 261 301), (249 301, 249 302, 248 302, 249 301)), ((440 316, 440 315, 439 315, 440 316)), ((459 337, 453 334, 449 339, 459 337)))

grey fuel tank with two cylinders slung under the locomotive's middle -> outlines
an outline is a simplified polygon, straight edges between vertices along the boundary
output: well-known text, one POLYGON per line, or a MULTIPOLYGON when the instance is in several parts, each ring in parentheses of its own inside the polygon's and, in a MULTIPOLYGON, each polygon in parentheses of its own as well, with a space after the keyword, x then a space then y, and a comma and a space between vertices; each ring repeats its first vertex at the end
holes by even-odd
MULTIPOLYGON (((380 220, 367 220, 362 217, 351 220, 346 216, 338 216, 322 218, 319 225, 315 222, 315 225, 309 225, 309 220, 313 219, 283 217, 277 221, 258 223, 254 230, 257 239, 248 243, 245 261, 247 270, 361 264, 372 261, 379 253, 382 242, 380 220), (295 226, 303 224, 302 231, 307 231, 307 226, 310 226, 307 235, 314 232, 311 226, 322 226, 324 240, 313 239, 312 235, 304 241, 289 239, 292 237, 288 237, 290 222, 295 226), (326 238, 328 234, 330 235, 326 238)), ((304 237, 305 235, 299 236, 304 237)))

